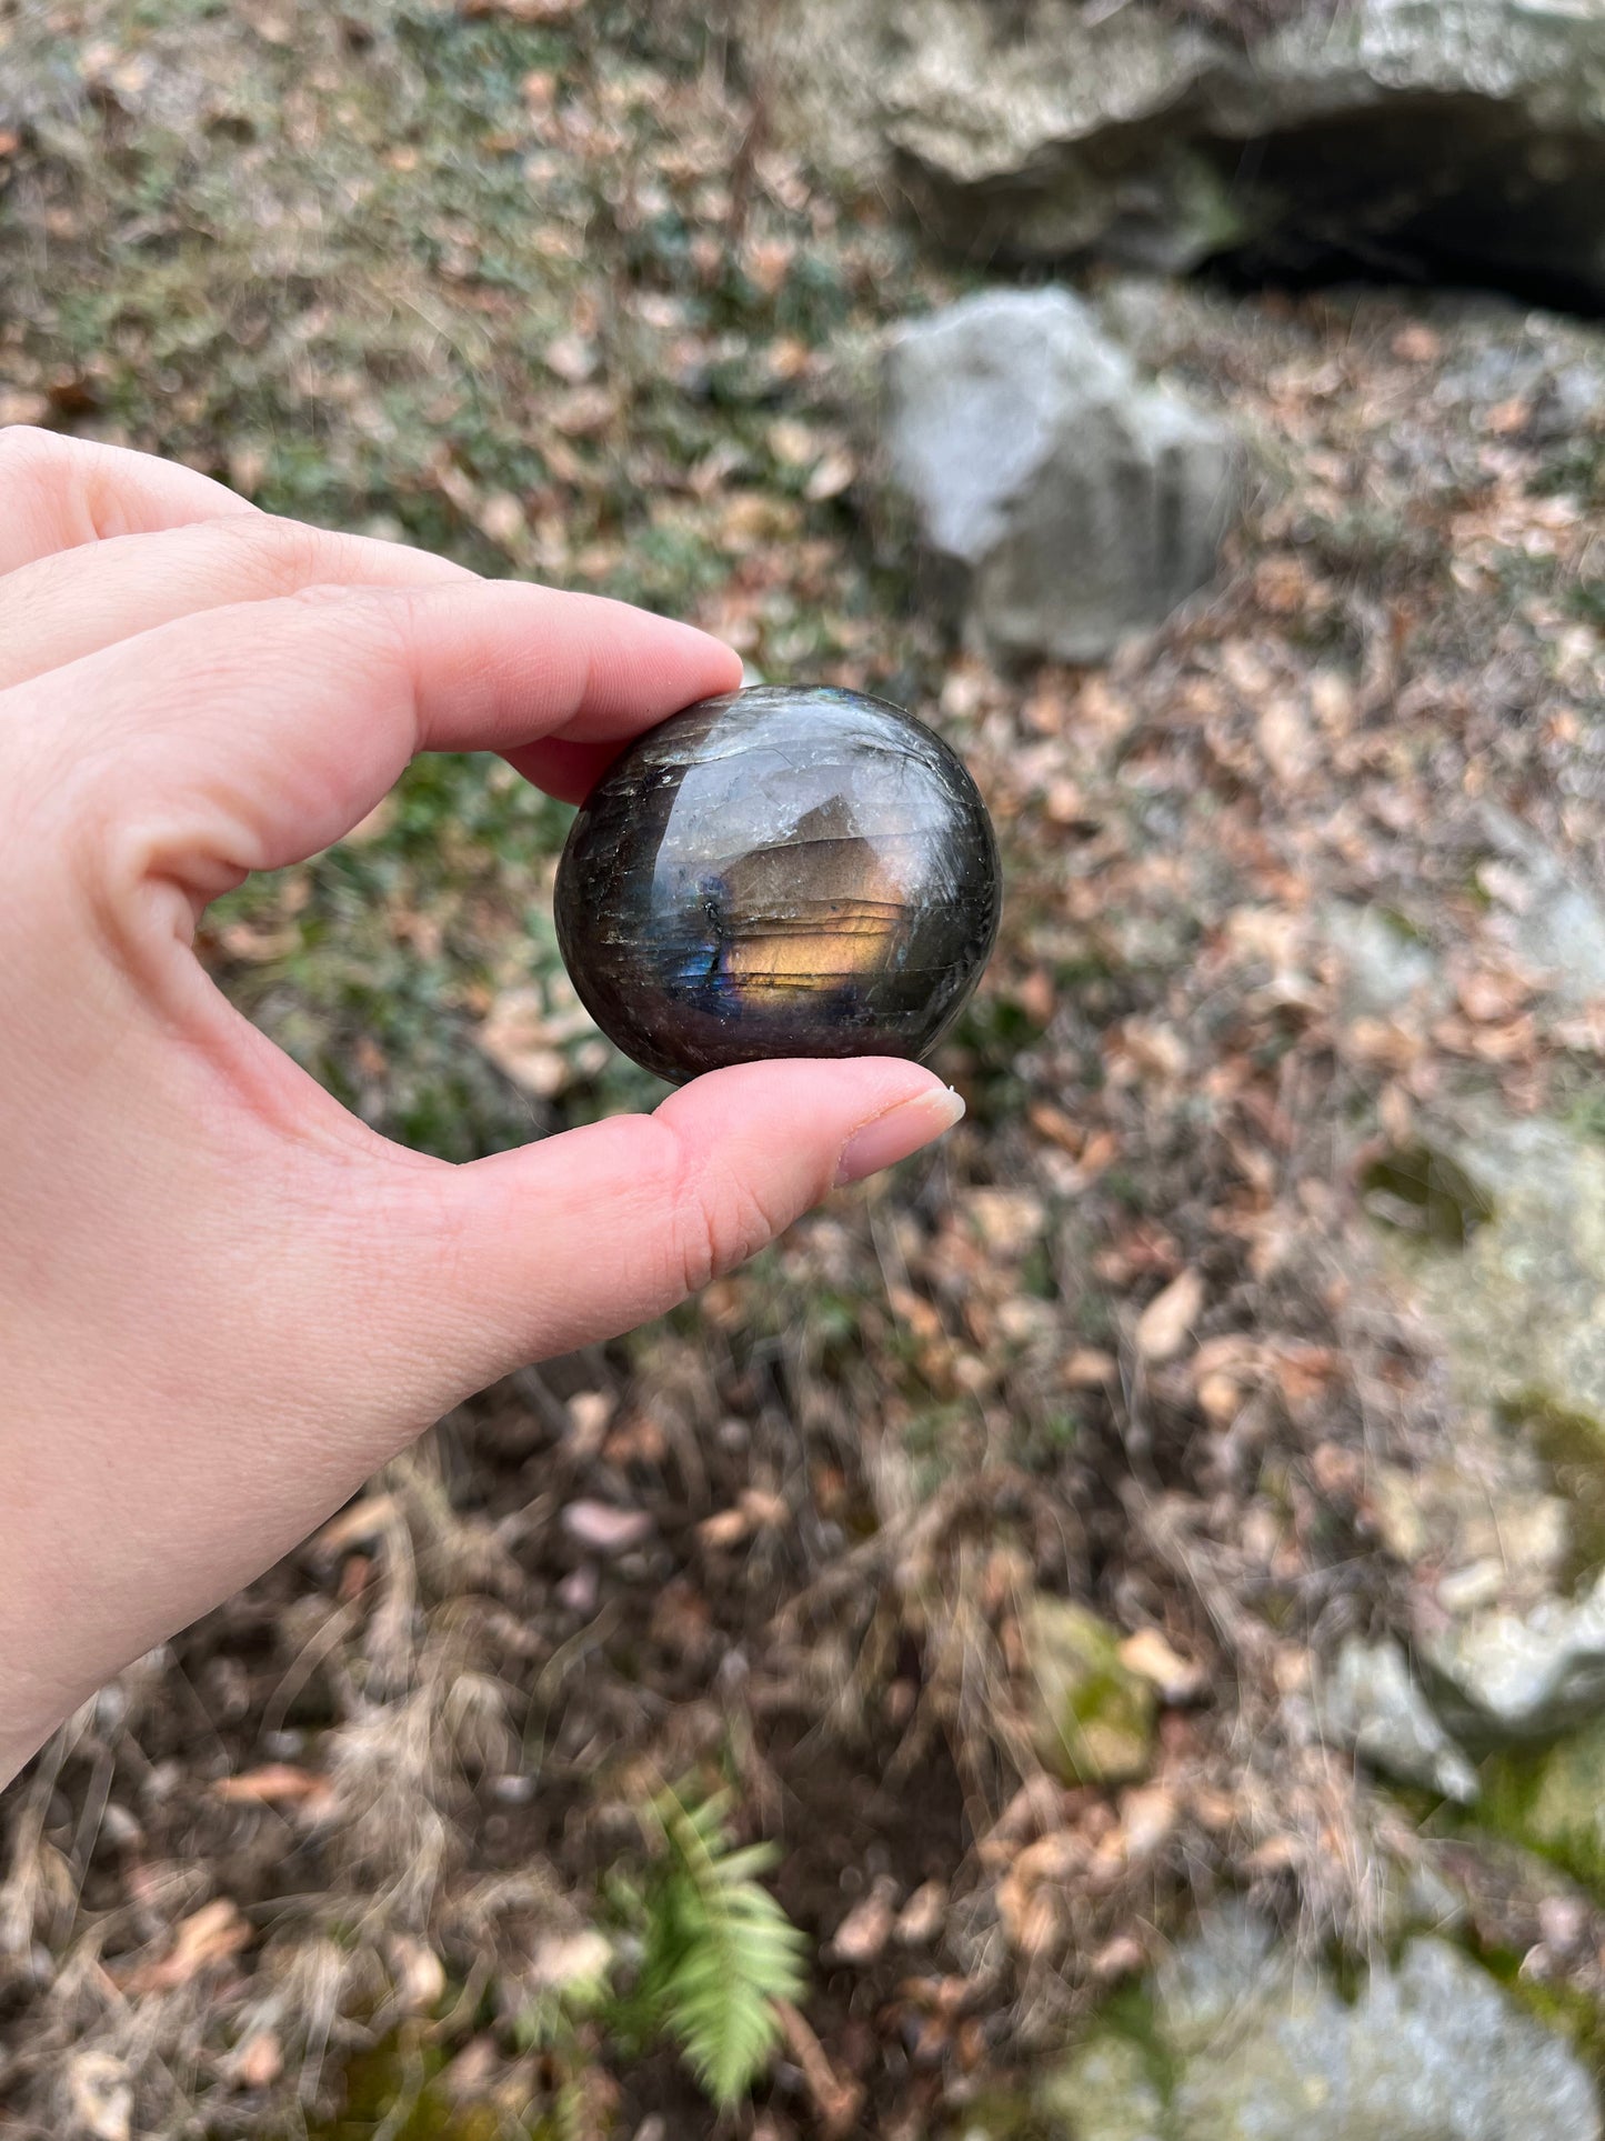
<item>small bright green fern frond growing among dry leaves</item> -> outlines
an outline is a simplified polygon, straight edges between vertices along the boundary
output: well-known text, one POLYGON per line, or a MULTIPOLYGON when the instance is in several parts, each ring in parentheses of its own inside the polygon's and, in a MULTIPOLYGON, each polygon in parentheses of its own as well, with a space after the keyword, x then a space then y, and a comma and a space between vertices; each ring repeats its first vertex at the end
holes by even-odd
POLYGON ((768 2066, 781 2034, 777 2000, 805 1991, 802 1933, 758 1886, 777 1852, 732 1848, 730 1794, 661 1792, 651 1816, 668 1846, 648 1905, 642 1991, 681 2045, 691 2072, 725 2109, 768 2066))

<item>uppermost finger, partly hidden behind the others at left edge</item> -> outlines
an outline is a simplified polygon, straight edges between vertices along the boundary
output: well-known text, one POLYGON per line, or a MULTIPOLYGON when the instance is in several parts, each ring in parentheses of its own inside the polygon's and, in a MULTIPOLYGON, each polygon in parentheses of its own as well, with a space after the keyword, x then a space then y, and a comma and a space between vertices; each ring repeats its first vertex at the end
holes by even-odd
POLYGON ((154 454, 30 424, 0 428, 0 574, 105 535, 150 535, 255 512, 225 484, 154 454))

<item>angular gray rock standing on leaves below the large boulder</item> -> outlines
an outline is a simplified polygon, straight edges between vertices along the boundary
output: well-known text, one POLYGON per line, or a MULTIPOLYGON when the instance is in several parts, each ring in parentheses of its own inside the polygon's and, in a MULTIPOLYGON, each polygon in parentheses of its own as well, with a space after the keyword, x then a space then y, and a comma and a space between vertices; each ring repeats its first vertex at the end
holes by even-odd
POLYGON ((903 328, 884 426, 888 477, 989 651, 1098 662, 1213 576, 1233 432, 1143 385, 1068 291, 995 291, 903 328))

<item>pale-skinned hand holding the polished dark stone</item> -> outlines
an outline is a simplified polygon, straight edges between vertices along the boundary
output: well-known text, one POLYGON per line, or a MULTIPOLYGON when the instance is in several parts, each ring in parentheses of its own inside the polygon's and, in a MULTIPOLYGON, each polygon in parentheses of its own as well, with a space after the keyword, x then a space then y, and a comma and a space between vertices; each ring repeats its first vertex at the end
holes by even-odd
POLYGON ((449 1167, 216 991, 205 904, 426 749, 578 799, 740 664, 623 604, 0 430, 0 1783, 499 1375, 629 1330, 961 1113, 747 1064, 449 1167))

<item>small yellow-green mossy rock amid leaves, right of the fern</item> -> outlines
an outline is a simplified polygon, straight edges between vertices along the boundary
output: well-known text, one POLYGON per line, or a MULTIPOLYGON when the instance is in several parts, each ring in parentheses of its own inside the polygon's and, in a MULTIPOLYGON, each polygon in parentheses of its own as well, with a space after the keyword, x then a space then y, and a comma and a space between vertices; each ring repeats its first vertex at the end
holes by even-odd
POLYGON ((1066 1783, 1130 1783, 1153 1760, 1156 1696, 1119 1657, 1119 1634, 1074 1599, 1025 1610, 1031 1736, 1066 1783))

